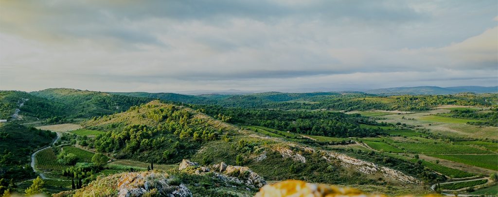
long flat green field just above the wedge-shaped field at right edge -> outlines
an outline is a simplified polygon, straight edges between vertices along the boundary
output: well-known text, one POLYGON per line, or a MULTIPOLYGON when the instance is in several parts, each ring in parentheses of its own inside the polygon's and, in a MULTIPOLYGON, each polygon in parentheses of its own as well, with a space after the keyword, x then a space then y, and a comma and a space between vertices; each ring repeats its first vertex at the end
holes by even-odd
POLYGON ((405 148, 412 153, 422 154, 456 154, 456 153, 472 153, 472 154, 488 154, 492 153, 487 150, 474 148, 466 145, 447 144, 444 142, 434 143, 395 143, 398 148, 405 148))

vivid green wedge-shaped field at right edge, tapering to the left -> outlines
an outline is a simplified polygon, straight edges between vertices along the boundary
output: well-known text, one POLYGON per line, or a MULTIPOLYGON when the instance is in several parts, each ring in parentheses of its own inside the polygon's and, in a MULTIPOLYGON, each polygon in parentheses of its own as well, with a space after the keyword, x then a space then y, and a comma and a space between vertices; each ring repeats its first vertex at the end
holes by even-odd
POLYGON ((498 171, 498 155, 429 155, 471 166, 498 171))

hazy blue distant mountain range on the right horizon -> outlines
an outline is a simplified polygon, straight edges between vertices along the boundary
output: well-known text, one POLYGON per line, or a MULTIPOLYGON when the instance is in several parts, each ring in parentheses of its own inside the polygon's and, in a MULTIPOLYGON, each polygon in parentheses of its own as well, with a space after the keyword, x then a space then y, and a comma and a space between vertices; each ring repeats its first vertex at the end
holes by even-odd
POLYGON ((375 95, 449 95, 457 93, 498 93, 498 86, 457 86, 441 88, 437 86, 418 86, 418 87, 398 87, 383 88, 365 91, 367 94, 375 95))

